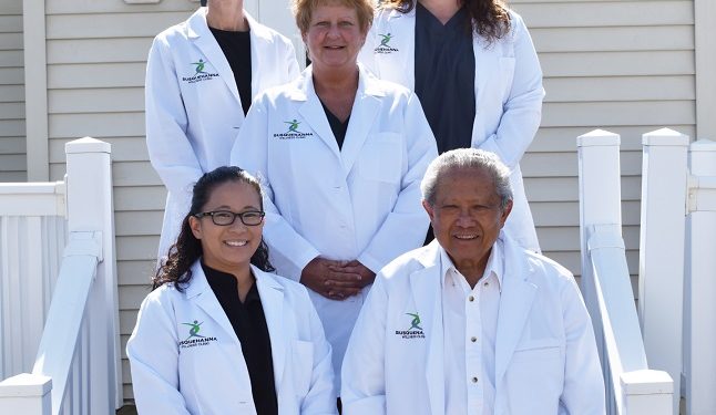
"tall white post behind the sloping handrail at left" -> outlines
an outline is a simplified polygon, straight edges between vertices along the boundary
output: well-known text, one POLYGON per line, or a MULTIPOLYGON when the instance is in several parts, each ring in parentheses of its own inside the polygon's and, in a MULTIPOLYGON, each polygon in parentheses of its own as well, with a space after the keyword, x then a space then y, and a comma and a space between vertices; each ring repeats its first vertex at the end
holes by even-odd
MULTIPOLYGON (((84 319, 89 332, 89 413, 113 413, 121 400, 119 307, 114 257, 111 147, 84 137, 65 145, 68 169, 68 227, 75 235, 101 234, 96 279, 91 287, 84 319)), ((68 252, 65 252, 65 257, 68 252)), ((42 361, 43 350, 38 352, 42 361)), ((35 364, 33 372, 41 372, 35 364)), ((53 397, 53 402, 57 402, 53 397)), ((54 408, 53 411, 58 411, 54 408)))

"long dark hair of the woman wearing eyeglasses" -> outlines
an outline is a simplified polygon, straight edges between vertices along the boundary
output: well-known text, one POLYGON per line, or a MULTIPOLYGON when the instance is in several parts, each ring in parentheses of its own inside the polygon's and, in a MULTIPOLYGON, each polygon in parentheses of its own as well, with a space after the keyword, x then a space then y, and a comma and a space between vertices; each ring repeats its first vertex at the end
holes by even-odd
MULTIPOLYGON (((192 228, 190 227, 190 218, 200 214, 209 197, 212 191, 225 183, 241 181, 250 185, 263 204, 263 191, 258 180, 249 175, 246 170, 236 166, 218 167, 212 172, 205 173, 194 185, 192 195, 192 207, 182 220, 182 229, 176 238, 176 243, 172 245, 166 260, 163 260, 156 274, 152 279, 152 289, 156 289, 165 283, 174 283, 177 290, 183 291, 183 284, 186 284, 192 279, 192 264, 202 257, 202 241, 194 237, 192 228)), ((274 267, 268 261, 268 247, 262 238, 258 249, 252 256, 250 263, 260 269, 262 271, 273 272, 274 267)))

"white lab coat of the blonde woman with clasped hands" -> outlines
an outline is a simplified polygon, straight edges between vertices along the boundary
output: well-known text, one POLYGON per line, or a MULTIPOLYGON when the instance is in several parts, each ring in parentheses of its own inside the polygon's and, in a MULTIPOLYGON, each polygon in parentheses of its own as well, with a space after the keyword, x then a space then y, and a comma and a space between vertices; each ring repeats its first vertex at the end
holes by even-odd
MULTIPOLYGON (((339 151, 308 66, 290 84, 254 101, 232 164, 263 181, 272 263, 277 273, 298 280, 317 256, 358 259, 377 272, 421 246, 429 220, 420 205, 420 180, 436 156, 417 96, 362 69, 339 151)), ((309 290, 336 373, 365 293, 334 301, 309 290)))

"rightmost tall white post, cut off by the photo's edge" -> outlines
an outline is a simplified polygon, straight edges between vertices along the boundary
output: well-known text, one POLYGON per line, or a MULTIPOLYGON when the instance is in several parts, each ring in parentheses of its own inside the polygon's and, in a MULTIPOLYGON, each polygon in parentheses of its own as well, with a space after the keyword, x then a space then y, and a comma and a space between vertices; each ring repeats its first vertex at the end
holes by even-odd
POLYGON ((716 414, 716 142, 691 146, 684 301, 686 412, 716 414))

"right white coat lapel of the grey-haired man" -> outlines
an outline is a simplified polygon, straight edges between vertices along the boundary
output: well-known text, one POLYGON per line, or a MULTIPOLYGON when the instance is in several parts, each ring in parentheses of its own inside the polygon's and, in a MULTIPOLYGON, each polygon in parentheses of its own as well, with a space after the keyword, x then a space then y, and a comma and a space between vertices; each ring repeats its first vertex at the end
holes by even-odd
POLYGON ((538 290, 538 287, 531 282, 530 277, 534 270, 526 262, 525 253, 515 242, 504 238, 503 241, 504 276, 494 345, 494 381, 498 387, 522 336, 538 290))

